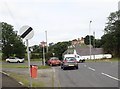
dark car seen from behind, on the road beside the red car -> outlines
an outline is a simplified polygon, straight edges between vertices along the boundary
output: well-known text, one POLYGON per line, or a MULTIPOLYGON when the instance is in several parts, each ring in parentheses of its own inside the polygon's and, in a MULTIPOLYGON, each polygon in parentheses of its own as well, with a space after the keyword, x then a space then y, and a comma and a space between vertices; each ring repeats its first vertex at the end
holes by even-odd
POLYGON ((66 57, 63 59, 61 69, 65 70, 68 67, 78 69, 78 63, 75 57, 66 57))

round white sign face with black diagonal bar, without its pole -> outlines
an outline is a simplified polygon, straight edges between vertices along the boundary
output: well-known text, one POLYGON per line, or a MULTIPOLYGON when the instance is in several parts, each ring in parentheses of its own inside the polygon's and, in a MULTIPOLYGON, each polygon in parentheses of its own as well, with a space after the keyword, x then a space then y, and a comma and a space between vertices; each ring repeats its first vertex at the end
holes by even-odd
POLYGON ((34 35, 34 31, 32 29, 32 27, 30 26, 23 26, 20 28, 20 36, 21 38, 24 38, 24 39, 31 39, 34 35))

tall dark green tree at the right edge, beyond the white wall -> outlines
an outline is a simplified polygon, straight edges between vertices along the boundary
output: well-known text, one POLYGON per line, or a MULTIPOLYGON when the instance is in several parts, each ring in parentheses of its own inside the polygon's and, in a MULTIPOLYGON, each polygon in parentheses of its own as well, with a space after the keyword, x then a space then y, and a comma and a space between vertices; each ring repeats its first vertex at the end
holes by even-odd
POLYGON ((106 52, 120 57, 120 11, 110 14, 105 27, 105 35, 102 36, 102 46, 106 52))

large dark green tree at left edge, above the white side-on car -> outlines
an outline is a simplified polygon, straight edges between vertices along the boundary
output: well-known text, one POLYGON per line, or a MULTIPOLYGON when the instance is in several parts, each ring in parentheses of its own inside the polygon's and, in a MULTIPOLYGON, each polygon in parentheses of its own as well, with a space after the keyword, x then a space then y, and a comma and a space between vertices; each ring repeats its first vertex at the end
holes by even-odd
POLYGON ((10 56, 24 57, 25 45, 22 40, 13 31, 13 26, 7 23, 0 23, 2 26, 2 58, 5 59, 10 56))

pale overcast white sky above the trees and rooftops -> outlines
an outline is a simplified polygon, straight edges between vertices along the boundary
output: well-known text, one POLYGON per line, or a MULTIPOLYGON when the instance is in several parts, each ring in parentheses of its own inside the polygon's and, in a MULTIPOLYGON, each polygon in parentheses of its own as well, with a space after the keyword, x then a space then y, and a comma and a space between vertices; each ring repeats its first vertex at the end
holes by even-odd
POLYGON ((119 0, 0 0, 0 22, 7 22, 20 31, 33 28, 29 45, 57 43, 85 37, 95 32, 104 35, 107 17, 118 10, 119 0), (92 21, 90 23, 90 21, 92 21))

